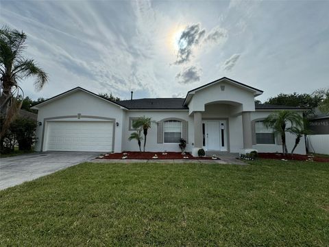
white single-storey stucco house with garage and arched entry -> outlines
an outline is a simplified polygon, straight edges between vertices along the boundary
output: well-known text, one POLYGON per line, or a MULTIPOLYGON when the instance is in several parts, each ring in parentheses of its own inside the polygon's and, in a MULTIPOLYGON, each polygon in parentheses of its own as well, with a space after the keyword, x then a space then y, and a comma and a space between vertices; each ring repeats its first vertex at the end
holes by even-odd
MULTIPOLYGON (((112 102, 77 87, 36 106, 38 110, 37 151, 137 151, 132 122, 145 115, 155 121, 147 135, 150 152, 180 151, 180 138, 186 151, 281 152, 281 140, 262 120, 276 110, 301 108, 255 104, 263 91, 221 78, 188 91, 185 98, 131 99, 112 102)), ((295 137, 287 133, 291 150, 295 137)), ((304 141, 295 153, 305 154, 304 141)))

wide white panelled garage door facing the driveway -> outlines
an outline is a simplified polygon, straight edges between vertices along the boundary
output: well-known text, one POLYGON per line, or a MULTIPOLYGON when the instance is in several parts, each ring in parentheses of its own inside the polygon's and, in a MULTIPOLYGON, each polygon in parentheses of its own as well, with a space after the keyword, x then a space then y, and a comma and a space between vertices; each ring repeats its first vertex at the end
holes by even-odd
POLYGON ((48 121, 46 150, 112 151, 112 121, 48 121))

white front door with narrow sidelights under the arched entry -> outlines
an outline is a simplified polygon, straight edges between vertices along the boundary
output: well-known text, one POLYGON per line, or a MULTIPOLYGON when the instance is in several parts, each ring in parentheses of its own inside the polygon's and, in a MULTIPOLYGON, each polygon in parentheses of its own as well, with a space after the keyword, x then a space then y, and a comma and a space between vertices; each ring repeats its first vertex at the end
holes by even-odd
POLYGON ((203 145, 205 150, 228 151, 226 120, 207 120, 202 122, 203 145))

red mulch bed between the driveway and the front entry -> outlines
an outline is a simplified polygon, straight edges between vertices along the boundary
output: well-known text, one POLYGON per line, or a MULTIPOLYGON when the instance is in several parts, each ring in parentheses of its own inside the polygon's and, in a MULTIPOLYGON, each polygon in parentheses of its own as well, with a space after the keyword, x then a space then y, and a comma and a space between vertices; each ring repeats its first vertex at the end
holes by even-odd
MULTIPOLYGON (((122 159, 123 154, 127 153, 127 158, 125 159, 154 159, 152 158, 155 154, 158 156, 156 159, 191 159, 191 160, 210 160, 211 157, 193 157, 190 153, 186 152, 181 154, 180 152, 167 152, 167 154, 162 154, 162 152, 122 152, 108 154, 108 156, 103 157, 103 159, 122 159), (183 158, 187 156, 188 158, 183 158)), ((103 155, 102 155, 103 156, 103 155)), ((219 158, 218 158, 219 159, 219 158)))

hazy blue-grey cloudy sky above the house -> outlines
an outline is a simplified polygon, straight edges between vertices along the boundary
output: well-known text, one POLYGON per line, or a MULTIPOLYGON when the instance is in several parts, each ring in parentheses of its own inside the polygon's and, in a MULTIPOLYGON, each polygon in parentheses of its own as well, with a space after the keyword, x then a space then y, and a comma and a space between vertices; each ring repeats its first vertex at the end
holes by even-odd
POLYGON ((329 1, 2 1, 52 97, 76 86, 121 99, 185 97, 226 76, 278 93, 329 86, 329 1))

